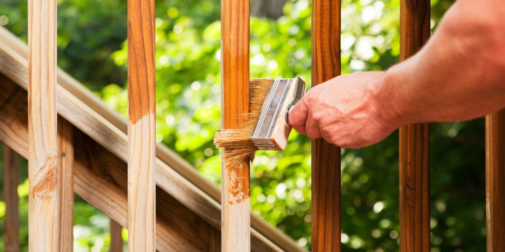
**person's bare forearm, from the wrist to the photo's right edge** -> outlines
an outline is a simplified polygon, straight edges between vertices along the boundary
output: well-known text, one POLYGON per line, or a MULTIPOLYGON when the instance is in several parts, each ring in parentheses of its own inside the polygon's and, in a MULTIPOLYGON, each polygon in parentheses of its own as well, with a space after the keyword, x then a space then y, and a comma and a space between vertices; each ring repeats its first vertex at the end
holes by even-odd
POLYGON ((457 1, 423 49, 385 73, 377 87, 384 116, 400 126, 471 119, 504 107, 499 2, 457 1))

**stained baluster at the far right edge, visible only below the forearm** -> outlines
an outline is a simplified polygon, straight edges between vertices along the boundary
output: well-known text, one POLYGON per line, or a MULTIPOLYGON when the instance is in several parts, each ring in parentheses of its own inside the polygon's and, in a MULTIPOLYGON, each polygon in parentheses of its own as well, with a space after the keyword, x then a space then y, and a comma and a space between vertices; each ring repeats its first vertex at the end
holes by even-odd
POLYGON ((505 251, 505 110, 486 116, 487 251, 505 251))

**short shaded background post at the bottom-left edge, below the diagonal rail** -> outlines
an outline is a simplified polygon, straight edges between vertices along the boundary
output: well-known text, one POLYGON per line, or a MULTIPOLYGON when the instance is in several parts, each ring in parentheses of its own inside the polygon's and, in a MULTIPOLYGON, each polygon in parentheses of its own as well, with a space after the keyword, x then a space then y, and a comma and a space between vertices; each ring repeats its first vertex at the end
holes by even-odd
POLYGON ((5 251, 19 251, 19 161, 18 154, 4 144, 5 251))

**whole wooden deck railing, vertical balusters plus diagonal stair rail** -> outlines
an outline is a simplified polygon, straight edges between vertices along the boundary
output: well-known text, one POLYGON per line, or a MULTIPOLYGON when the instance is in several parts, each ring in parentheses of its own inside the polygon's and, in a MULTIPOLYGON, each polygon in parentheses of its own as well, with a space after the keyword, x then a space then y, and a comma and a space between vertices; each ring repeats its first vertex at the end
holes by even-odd
MULTIPOLYGON (((401 0, 400 60, 429 37, 429 0, 401 0)), ((222 0, 222 126, 248 112, 249 1, 222 0)), ((312 0, 313 85, 340 74, 339 0, 312 0)), ((29 0, 29 46, 0 27, 6 249, 18 244, 18 154, 29 160, 31 251, 72 250, 73 194, 111 218, 111 251, 304 251, 250 214, 249 163, 222 192, 155 142, 154 0, 128 4, 129 120, 56 66, 56 0, 29 0), (44 6, 41 6, 44 5, 44 6), (79 143, 79 148, 74 148, 79 143)), ((400 250, 427 251, 429 125, 400 129, 400 250)), ((226 150, 225 150, 226 151, 226 150)), ((340 149, 312 142, 312 248, 340 251, 340 149)), ((486 117, 487 250, 505 251, 505 111, 486 117)))

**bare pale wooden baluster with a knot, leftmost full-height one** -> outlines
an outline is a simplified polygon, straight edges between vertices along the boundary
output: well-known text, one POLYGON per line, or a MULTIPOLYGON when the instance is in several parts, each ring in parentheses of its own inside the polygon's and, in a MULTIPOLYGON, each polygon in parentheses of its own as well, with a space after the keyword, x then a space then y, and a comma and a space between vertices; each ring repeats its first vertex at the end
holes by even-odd
POLYGON ((58 251, 56 0, 28 0, 28 237, 30 251, 58 251))

